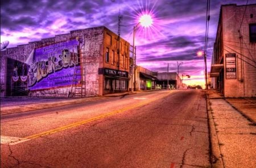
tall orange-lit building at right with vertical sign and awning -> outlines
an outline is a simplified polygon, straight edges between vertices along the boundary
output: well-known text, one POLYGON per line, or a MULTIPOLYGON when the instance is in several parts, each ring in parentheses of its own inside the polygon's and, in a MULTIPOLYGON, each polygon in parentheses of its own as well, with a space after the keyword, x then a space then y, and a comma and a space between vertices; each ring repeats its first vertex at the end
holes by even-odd
POLYGON ((210 77, 225 97, 256 95, 256 4, 223 5, 210 77))

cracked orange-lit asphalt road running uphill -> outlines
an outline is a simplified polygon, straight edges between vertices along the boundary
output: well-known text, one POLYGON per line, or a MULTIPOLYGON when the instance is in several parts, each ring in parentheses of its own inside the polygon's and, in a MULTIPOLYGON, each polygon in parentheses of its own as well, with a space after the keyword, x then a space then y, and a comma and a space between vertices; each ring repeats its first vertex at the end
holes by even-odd
POLYGON ((210 167, 205 96, 156 91, 6 117, 1 167, 210 167))

